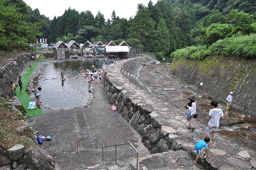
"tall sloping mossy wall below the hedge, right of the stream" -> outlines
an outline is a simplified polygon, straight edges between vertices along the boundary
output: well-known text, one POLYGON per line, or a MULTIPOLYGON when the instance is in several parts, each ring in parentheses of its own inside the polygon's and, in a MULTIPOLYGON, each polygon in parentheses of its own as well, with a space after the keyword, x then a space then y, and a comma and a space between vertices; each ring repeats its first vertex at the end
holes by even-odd
POLYGON ((256 116, 256 60, 209 57, 194 61, 180 58, 172 62, 170 73, 218 101, 226 102, 227 95, 233 91, 232 107, 256 116))

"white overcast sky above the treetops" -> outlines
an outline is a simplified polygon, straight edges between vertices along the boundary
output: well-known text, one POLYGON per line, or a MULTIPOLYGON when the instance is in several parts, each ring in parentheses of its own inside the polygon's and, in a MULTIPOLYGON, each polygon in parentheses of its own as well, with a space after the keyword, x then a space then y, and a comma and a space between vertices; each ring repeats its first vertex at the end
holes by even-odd
MULTIPOLYGON (((100 11, 104 14, 105 20, 111 19, 113 10, 116 16, 129 19, 137 12, 137 5, 143 3, 148 5, 149 0, 23 0, 32 9, 38 8, 40 14, 49 17, 61 16, 69 7, 76 9, 79 13, 90 10, 94 17, 100 11)), ((157 0, 151 0, 154 4, 157 0)))

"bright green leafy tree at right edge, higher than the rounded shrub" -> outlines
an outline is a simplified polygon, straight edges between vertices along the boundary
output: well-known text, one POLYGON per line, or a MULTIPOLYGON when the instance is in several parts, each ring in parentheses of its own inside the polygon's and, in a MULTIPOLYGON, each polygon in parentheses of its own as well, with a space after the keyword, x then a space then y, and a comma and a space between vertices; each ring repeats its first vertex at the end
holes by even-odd
POLYGON ((241 32, 243 35, 250 35, 250 33, 256 32, 252 25, 254 22, 253 15, 238 12, 238 10, 233 9, 227 14, 227 18, 230 19, 230 23, 235 26, 235 34, 241 32))

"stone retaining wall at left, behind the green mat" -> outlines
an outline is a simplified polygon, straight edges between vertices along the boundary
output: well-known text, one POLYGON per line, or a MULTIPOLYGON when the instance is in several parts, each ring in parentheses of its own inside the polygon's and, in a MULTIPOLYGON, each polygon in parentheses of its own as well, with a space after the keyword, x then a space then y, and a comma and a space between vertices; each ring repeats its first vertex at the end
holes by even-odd
POLYGON ((11 94, 11 81, 16 83, 23 66, 32 61, 33 55, 35 56, 33 52, 23 53, 10 57, 0 64, 0 96, 7 98, 11 94))

